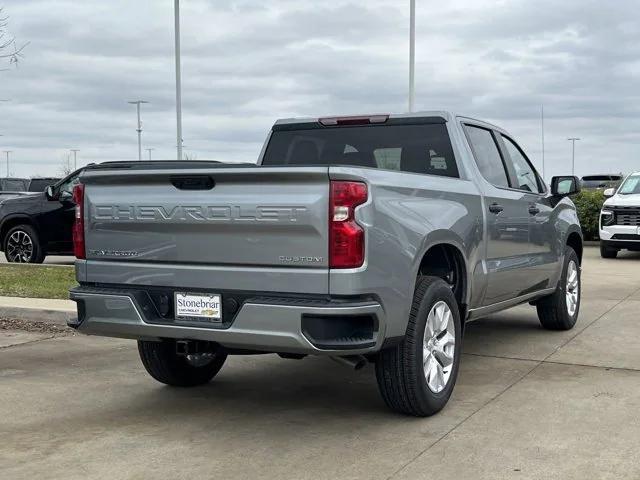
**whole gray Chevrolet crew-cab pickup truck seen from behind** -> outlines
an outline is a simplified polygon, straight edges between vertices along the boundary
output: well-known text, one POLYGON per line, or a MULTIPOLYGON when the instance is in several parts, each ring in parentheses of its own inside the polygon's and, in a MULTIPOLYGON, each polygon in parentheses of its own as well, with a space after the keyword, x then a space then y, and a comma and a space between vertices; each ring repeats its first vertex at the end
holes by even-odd
POLYGON ((257 165, 90 166, 71 326, 136 339, 176 386, 232 354, 372 362, 390 408, 431 415, 465 322, 528 302, 575 324, 578 185, 549 190, 507 132, 446 112, 280 120, 257 165))

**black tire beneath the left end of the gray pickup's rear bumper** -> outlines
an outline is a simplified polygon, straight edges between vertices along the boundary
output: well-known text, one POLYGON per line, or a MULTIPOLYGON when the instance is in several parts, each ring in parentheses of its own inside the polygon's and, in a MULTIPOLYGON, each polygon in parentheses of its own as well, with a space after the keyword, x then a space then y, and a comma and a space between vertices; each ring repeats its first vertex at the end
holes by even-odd
POLYGON ((211 381, 220 371, 227 354, 218 351, 209 363, 192 365, 184 355, 176 353, 176 342, 138 340, 138 352, 144 368, 160 383, 174 387, 195 387, 211 381))

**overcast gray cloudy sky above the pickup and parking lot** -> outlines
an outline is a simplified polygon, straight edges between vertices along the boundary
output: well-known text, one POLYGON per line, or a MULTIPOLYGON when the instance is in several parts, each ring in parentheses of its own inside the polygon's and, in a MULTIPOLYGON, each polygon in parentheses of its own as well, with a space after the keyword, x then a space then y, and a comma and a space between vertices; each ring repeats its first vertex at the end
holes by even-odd
MULTIPOLYGON (((406 110, 409 0, 183 0, 185 152, 255 161, 278 117, 406 110)), ((30 42, 0 71, 11 173, 175 158, 171 0, 0 0, 30 42), (144 152, 145 156, 147 152, 144 152)), ((416 106, 495 122, 546 178, 640 169, 640 22, 633 0, 417 0, 416 106)), ((4 154, 0 176, 5 174, 4 154)))

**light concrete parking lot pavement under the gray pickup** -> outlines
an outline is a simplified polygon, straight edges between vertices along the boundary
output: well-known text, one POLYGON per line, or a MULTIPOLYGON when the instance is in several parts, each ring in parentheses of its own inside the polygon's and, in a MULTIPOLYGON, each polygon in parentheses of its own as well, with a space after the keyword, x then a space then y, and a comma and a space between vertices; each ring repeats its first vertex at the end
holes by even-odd
MULTIPOLYGON (((372 368, 232 357, 202 388, 147 376, 131 341, 0 348, 0 471, 33 478, 639 478, 640 255, 585 252, 579 324, 521 306, 469 324, 452 401, 389 412, 372 368)), ((8 342, 10 343, 10 342, 8 342)))

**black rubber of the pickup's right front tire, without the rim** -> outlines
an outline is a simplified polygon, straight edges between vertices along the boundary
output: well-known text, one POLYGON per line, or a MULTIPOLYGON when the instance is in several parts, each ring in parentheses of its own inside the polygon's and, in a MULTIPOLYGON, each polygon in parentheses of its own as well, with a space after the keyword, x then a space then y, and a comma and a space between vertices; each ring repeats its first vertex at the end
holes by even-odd
POLYGON ((580 282, 580 261, 578 255, 571 247, 566 247, 564 252, 564 265, 562 275, 556 291, 548 297, 538 300, 536 308, 538 319, 547 330, 571 330, 578 320, 580 314, 580 299, 582 298, 582 284, 580 282), (576 274, 578 281, 578 297, 575 312, 569 313, 567 306, 567 270, 569 264, 573 262, 577 266, 576 274))

